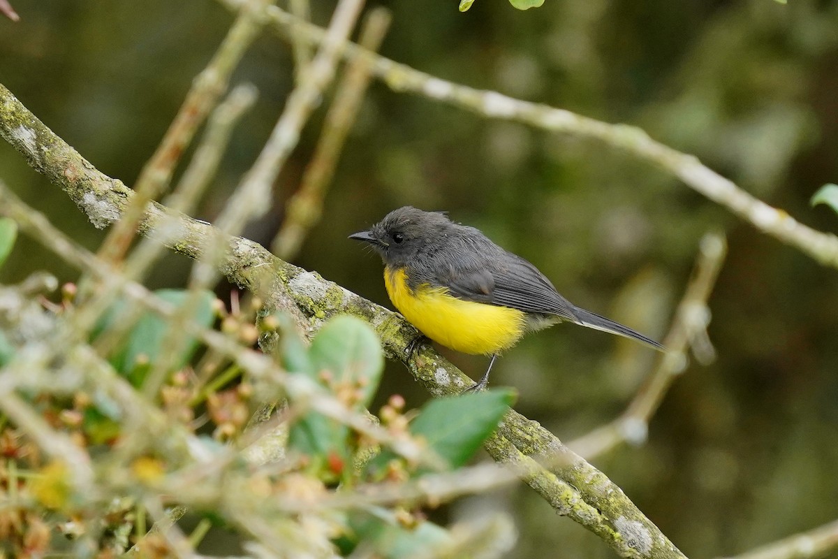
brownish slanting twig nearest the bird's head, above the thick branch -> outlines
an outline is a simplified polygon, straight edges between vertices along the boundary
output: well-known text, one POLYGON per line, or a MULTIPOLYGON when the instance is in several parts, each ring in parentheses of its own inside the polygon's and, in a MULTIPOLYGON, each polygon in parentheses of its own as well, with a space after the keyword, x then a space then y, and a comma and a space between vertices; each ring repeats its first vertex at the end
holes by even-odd
MULTIPOLYGON (((375 52, 384 40, 390 20, 390 12, 385 8, 375 8, 368 13, 361 28, 359 44, 375 52)), ((282 228, 272 242, 271 251, 282 260, 292 261, 297 256, 308 231, 320 220, 323 198, 369 85, 370 65, 367 60, 350 60, 326 114, 323 134, 303 173, 300 188, 288 200, 282 228)))

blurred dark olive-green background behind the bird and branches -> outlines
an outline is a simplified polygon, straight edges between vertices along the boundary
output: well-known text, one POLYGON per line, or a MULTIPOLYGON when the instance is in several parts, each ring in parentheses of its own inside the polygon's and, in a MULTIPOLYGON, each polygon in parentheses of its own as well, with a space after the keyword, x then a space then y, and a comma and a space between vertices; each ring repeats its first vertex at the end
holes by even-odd
MULTIPOLYGON (((379 5, 393 13, 385 56, 465 85, 644 127, 805 224, 838 230, 838 216, 809 205, 822 184, 838 182, 838 2, 548 0, 519 12, 477 0, 468 13, 453 0, 369 3, 379 5)), ((13 6, 22 19, 0 18, 0 83, 129 185, 232 21, 213 0, 13 6)), ((327 23, 333 8, 313 3, 313 20, 327 23)), ((276 122, 292 87, 288 44, 266 30, 235 75, 242 81, 257 86, 259 101, 235 132, 199 219, 217 215, 276 122)), ((246 236, 270 243, 323 112, 284 169, 270 217, 246 236)), ((85 246, 101 241, 65 194, 5 143, 0 178, 85 246)), ((535 262, 572 302, 658 339, 701 236, 725 231, 729 256, 711 297, 717 360, 692 363, 676 380, 648 443, 594 463, 688 556, 734 554, 838 517, 838 272, 602 143, 487 121, 374 82, 325 219, 295 263, 389 307, 380 261, 346 236, 405 204, 478 226, 535 262)), ((75 279, 27 239, 15 253, 0 281, 39 269, 75 279)), ((180 286, 189 265, 169 256, 150 282, 180 286)), ((493 382, 515 386, 516 408, 569 441, 623 411, 652 354, 559 326, 504 355, 493 382)), ((487 365, 446 355, 473 377, 487 365)), ((393 392, 410 406, 427 399, 401 365, 390 364, 382 396, 393 392)), ((513 556, 613 556, 524 485, 465 499, 442 510, 441 520, 486 508, 515 520, 513 556)))

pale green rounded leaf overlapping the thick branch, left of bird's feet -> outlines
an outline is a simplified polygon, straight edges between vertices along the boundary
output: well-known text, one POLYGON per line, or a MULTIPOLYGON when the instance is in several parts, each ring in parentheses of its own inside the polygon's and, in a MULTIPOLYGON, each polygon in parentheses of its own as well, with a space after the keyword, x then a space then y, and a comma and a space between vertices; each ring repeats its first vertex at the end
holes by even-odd
POLYGON ((314 369, 328 370, 334 383, 358 387, 356 409, 370 405, 384 369, 381 343, 370 324, 349 315, 333 318, 313 339, 309 355, 314 369))

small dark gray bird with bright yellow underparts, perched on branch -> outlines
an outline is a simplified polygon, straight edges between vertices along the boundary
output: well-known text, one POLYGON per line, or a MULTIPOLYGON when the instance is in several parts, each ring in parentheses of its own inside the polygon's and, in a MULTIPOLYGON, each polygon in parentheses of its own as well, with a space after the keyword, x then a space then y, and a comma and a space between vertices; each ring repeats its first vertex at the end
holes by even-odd
POLYGON ((381 256, 387 295, 416 329, 447 348, 491 358, 469 390, 489 385, 495 360, 524 334, 561 322, 665 351, 654 339, 577 307, 530 261, 450 220, 447 212, 404 206, 349 239, 381 256))

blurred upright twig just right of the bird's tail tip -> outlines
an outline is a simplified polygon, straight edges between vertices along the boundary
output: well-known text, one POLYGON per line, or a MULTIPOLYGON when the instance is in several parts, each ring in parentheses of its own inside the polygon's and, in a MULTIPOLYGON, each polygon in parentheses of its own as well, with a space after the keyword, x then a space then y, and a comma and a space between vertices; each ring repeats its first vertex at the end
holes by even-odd
POLYGON ((727 244, 721 234, 708 233, 701 239, 693 277, 675 312, 670 332, 664 339, 666 353, 660 357, 655 370, 622 416, 567 443, 568 447, 590 459, 624 441, 634 444, 645 442, 649 420, 675 377, 685 370, 687 352, 696 339, 703 339, 706 335, 710 321, 707 299, 716 284, 726 252, 727 244))

